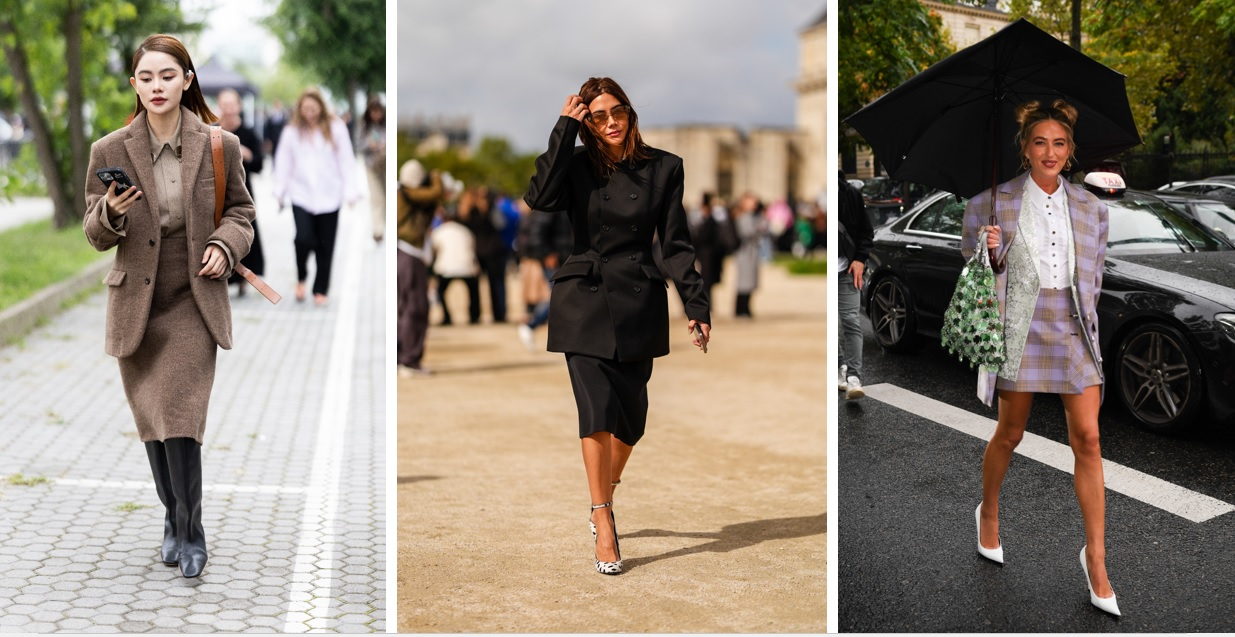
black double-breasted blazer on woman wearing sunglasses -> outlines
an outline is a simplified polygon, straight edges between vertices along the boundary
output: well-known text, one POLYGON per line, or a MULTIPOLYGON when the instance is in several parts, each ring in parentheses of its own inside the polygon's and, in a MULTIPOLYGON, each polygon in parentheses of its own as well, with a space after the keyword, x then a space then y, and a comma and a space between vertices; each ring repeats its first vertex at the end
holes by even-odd
POLYGON ((574 251, 553 275, 548 349, 618 360, 669 353, 668 281, 652 260, 657 235, 688 318, 711 323, 703 278, 682 207, 682 158, 622 164, 598 179, 579 121, 561 116, 524 200, 534 210, 566 212, 574 251))

